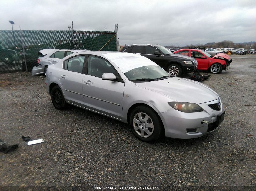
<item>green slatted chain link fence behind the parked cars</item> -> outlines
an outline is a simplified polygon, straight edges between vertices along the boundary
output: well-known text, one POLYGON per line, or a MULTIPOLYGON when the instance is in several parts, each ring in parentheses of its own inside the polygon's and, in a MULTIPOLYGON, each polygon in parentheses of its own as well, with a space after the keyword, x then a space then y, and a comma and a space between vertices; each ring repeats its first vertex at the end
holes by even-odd
POLYGON ((0 30, 0 73, 31 71, 48 48, 117 51, 116 32, 0 30))

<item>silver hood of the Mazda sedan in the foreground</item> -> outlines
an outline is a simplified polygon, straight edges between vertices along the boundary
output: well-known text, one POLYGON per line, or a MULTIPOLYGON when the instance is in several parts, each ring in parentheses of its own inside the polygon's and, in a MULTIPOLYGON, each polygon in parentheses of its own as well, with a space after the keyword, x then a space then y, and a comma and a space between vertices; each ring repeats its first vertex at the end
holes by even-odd
POLYGON ((179 77, 136 83, 136 85, 168 96, 178 102, 200 104, 218 99, 218 94, 206 85, 179 77))

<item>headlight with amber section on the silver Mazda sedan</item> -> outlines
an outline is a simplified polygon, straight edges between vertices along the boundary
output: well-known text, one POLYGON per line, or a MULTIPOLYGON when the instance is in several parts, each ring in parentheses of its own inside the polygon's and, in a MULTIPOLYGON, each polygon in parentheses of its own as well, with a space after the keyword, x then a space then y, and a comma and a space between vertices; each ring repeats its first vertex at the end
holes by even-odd
POLYGON ((192 112, 200 112, 203 111, 203 109, 195 103, 187 103, 187 102, 168 102, 169 106, 171 106, 173 109, 186 112, 186 113, 192 113, 192 112))

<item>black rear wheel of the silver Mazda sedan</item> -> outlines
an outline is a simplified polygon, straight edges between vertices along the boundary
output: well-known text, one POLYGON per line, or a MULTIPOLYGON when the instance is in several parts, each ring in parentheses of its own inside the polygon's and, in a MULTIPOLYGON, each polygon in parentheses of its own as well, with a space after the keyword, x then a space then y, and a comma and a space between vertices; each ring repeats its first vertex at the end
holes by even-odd
POLYGON ((59 86, 54 86, 52 88, 51 100, 53 106, 58 110, 64 110, 67 106, 67 102, 65 101, 65 98, 59 86))

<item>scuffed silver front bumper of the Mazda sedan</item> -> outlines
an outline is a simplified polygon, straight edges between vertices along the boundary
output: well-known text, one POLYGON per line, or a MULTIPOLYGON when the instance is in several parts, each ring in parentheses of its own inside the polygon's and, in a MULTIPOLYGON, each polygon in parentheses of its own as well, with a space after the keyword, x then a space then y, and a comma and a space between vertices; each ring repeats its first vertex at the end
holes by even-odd
POLYGON ((184 113, 173 108, 166 112, 158 112, 164 124, 165 136, 169 138, 190 139, 201 137, 216 130, 219 125, 217 119, 219 121, 221 114, 225 112, 222 104, 220 111, 211 109, 205 103, 198 105, 203 109, 202 112, 184 113), (210 124, 202 121, 207 121, 210 124))

